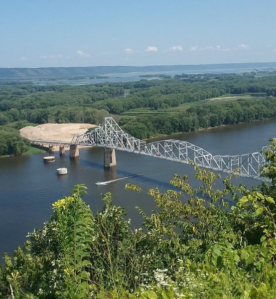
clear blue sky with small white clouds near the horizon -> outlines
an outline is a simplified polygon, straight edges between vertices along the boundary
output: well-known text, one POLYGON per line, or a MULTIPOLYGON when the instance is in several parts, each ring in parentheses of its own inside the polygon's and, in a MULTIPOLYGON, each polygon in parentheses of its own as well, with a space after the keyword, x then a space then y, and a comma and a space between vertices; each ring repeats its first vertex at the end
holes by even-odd
POLYGON ((276 0, 0 0, 0 67, 276 61, 276 0))

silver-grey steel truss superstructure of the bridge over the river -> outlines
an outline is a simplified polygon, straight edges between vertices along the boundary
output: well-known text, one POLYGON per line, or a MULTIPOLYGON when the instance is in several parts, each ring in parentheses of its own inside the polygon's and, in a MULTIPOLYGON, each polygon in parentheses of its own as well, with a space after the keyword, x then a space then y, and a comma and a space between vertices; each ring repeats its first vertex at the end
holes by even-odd
MULTIPOLYGON (((112 117, 105 118, 104 124, 100 124, 89 133, 73 137, 71 145, 118 149, 186 164, 193 161, 198 166, 212 170, 237 172, 239 176, 270 181, 260 176, 266 161, 261 152, 212 155, 186 141, 164 140, 146 143, 124 132, 112 117)), ((264 147, 263 150, 267 148, 264 147)))

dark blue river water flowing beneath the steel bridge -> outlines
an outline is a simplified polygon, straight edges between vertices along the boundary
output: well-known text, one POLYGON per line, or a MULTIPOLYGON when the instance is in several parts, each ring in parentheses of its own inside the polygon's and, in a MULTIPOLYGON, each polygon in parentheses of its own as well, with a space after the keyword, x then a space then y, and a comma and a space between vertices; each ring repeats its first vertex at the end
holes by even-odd
MULTIPOLYGON (((260 151, 272 137, 276 137, 276 120, 170 135, 163 139, 185 140, 212 154, 242 154, 260 151)), ((71 160, 68 151, 61 157, 56 151, 54 163, 43 163, 46 155, 48 153, 0 159, 1 257, 21 245, 28 232, 42 228, 53 212, 52 203, 70 195, 74 184, 86 184, 89 195, 85 195, 84 200, 94 213, 103 206, 101 194, 112 192, 114 203, 127 209, 133 227, 140 226, 142 221, 136 206, 147 214, 155 208, 153 199, 146 193, 149 188, 157 187, 160 191, 171 188, 168 182, 174 173, 188 174, 189 182, 198 185, 192 166, 158 157, 116 151, 117 166, 104 169, 101 148, 80 149, 80 156, 71 160), (59 167, 67 167, 68 174, 58 176, 59 167), (127 178, 95 185, 98 181, 123 177, 127 178), (142 192, 125 190, 126 183, 138 185, 142 192)), ((249 178, 234 179, 234 183, 245 183, 248 188, 260 184, 249 178)), ((216 184, 217 188, 221 186, 221 182, 216 184)))

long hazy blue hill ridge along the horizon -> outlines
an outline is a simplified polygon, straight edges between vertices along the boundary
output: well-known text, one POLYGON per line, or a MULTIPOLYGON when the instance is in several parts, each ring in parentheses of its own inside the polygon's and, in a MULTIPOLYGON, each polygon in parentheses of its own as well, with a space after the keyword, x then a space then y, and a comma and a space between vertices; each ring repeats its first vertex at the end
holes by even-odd
POLYGON ((87 67, 39 67, 39 68, 0 68, 0 79, 12 78, 69 78, 72 76, 93 76, 109 73, 131 72, 195 72, 202 70, 229 70, 274 68, 276 62, 193 64, 193 65, 148 65, 148 66, 87 66, 87 67))

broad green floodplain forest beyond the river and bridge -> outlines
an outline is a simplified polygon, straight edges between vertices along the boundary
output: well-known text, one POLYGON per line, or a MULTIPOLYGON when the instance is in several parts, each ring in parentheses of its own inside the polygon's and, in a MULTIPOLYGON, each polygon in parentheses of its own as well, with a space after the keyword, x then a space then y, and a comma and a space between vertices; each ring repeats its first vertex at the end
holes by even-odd
POLYGON ((125 131, 144 139, 274 118, 275 95, 274 72, 181 74, 80 86, 3 82, 0 155, 25 150, 28 143, 19 137, 18 129, 26 125, 99 124, 113 115, 125 131), (10 137, 16 146, 11 146, 10 137))

